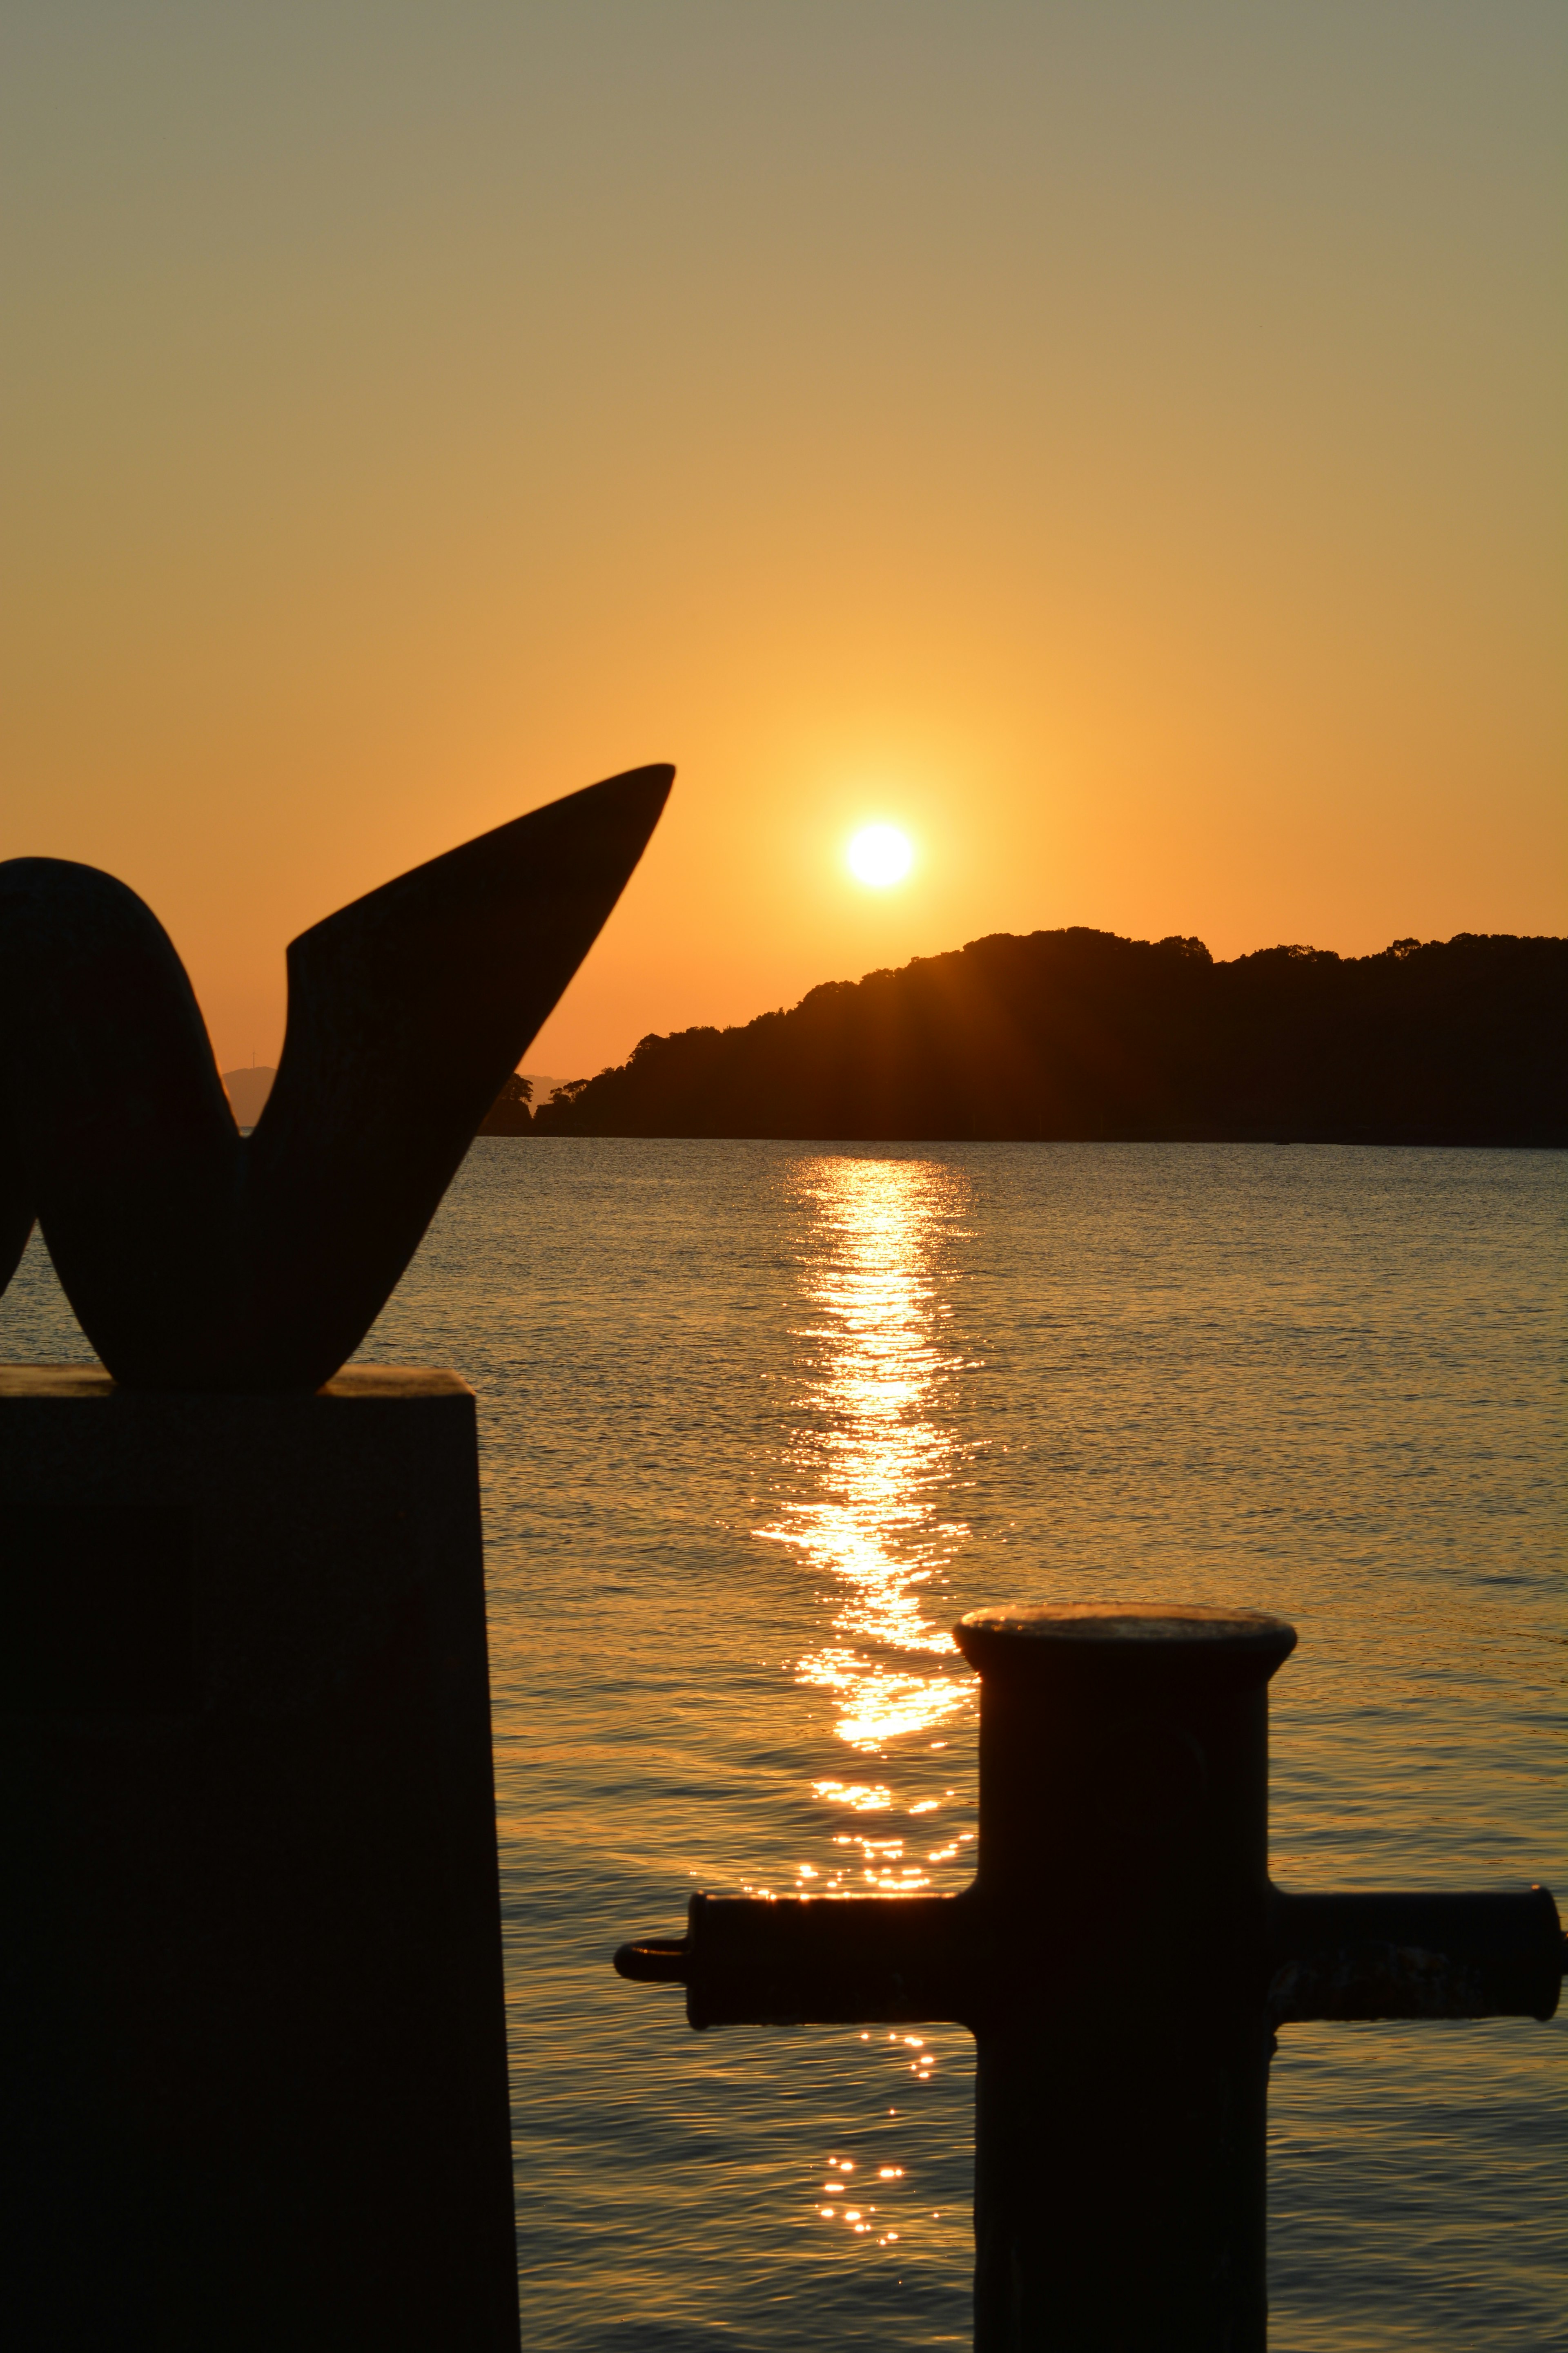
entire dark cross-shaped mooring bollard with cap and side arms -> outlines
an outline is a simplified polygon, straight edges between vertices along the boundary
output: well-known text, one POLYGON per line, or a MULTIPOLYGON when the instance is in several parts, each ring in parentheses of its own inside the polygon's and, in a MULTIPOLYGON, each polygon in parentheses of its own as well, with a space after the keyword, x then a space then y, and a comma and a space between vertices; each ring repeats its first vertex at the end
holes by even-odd
POLYGON ((691 1897, 616 1953, 691 2026, 969 2026, 976 2353, 1260 2353, 1274 2028, 1549 2019, 1544 1887, 1284 1894, 1253 1609, 976 1609, 980 1861, 957 1897, 691 1897))

